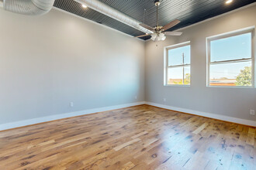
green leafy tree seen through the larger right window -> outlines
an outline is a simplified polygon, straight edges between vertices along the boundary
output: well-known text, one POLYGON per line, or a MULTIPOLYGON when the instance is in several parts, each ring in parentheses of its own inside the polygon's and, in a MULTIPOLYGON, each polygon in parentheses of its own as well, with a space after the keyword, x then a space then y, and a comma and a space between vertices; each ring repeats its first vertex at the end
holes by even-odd
POLYGON ((245 66, 236 77, 236 86, 251 86, 251 66, 245 66))

